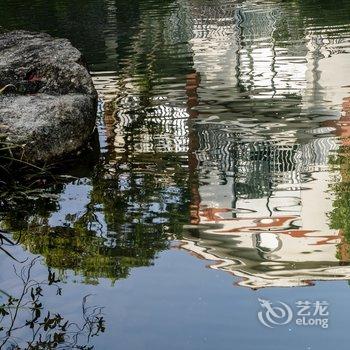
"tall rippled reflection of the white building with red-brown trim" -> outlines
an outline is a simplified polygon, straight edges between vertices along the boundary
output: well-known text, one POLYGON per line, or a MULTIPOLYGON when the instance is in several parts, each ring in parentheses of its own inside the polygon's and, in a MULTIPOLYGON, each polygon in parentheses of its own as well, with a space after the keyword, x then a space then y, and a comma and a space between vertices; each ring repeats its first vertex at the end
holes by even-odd
POLYGON ((247 6, 231 20, 227 12, 207 25, 200 19, 204 29, 197 25, 191 40, 202 78, 197 109, 211 118, 195 126, 200 185, 181 246, 253 288, 347 278, 341 234, 327 216, 328 158, 338 142, 333 125, 319 126, 339 116, 327 109, 337 100, 323 101, 330 68, 319 62, 325 43, 339 43, 310 32, 305 43, 286 44, 277 28, 293 19, 284 9, 247 6))

